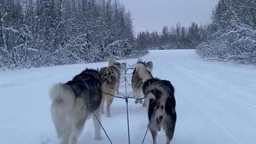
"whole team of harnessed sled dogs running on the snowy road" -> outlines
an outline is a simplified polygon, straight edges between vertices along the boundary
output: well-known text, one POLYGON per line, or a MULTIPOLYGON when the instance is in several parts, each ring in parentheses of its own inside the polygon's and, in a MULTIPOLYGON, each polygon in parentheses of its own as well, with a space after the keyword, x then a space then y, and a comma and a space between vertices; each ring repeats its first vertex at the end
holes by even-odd
MULTIPOLYGON (((152 70, 152 61, 137 61, 132 74, 133 97, 146 97, 144 101, 135 100, 135 103, 142 104, 148 110, 148 126, 153 144, 156 144, 157 132, 161 131, 161 128, 166 134, 166 144, 169 144, 177 119, 174 87, 170 81, 153 77, 152 70)), ((110 106, 114 100, 112 95, 119 94, 120 78, 126 71, 126 63, 110 59, 108 67, 100 70, 86 68, 67 83, 51 87, 51 116, 60 144, 77 144, 85 121, 91 117, 94 138, 102 139, 98 120, 101 122, 105 102, 106 115, 111 117, 110 106)))

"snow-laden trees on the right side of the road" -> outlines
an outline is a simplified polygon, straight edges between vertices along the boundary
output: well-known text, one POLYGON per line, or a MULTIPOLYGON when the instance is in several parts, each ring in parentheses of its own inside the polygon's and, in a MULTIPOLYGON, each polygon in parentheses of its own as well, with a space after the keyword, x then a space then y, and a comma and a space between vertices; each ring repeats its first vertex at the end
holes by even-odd
POLYGON ((256 63, 256 1, 220 0, 196 52, 202 58, 256 63))

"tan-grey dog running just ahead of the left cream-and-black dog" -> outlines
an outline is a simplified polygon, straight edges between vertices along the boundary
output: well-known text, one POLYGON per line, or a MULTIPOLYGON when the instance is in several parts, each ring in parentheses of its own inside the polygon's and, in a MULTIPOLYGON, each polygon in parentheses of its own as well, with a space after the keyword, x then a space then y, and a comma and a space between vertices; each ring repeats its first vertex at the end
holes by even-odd
POLYGON ((104 113, 104 104, 107 103, 107 117, 111 117, 110 106, 114 100, 115 92, 119 93, 119 83, 120 83, 120 71, 115 65, 113 59, 109 60, 109 67, 104 67, 100 69, 100 75, 103 80, 102 93, 103 99, 101 102, 101 113, 104 113), (111 94, 111 95, 109 95, 111 94))

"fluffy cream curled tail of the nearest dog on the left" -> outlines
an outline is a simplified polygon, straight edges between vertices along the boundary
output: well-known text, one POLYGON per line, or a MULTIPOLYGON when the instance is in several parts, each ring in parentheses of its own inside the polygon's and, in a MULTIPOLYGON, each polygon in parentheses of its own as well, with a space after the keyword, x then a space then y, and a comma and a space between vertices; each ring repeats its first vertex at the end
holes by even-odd
POLYGON ((67 84, 55 84, 50 90, 52 106, 60 113, 70 111, 75 105, 75 93, 67 84))

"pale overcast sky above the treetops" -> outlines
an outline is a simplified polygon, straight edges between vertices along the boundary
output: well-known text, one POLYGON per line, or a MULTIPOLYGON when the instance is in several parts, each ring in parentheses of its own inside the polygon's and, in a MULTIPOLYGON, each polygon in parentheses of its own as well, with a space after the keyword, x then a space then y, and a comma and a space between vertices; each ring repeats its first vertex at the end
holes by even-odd
POLYGON ((205 24, 218 0, 120 0, 132 12, 135 33, 162 31, 163 26, 205 24))

